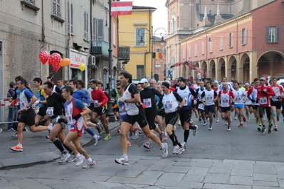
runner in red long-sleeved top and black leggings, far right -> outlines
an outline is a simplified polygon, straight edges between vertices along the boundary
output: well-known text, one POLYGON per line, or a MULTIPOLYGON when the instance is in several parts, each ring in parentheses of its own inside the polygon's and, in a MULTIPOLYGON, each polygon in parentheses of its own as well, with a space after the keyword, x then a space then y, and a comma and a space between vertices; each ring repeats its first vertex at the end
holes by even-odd
POLYGON ((261 133, 265 133, 266 128, 265 128, 265 124, 264 124, 264 120, 263 120, 263 112, 265 109, 266 115, 267 115, 267 119, 268 119, 268 134, 270 134, 272 132, 272 124, 271 124, 271 102, 270 102, 270 96, 275 96, 275 92, 273 91, 273 89, 269 86, 269 85, 265 85, 266 80, 265 77, 261 77, 261 79, 259 79, 261 82, 261 85, 257 88, 258 90, 258 96, 256 98, 256 103, 259 103, 259 107, 258 107, 258 113, 259 113, 259 117, 260 117, 260 121, 261 121, 261 133))

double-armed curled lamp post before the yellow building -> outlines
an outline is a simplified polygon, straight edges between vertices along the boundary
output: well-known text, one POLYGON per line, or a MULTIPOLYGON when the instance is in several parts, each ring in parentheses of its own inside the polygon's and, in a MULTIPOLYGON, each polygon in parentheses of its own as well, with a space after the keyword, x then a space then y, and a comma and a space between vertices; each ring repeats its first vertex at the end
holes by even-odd
MULTIPOLYGON (((140 33, 141 30, 147 30, 149 31, 147 28, 140 28, 140 30, 138 31, 138 36, 140 36, 140 45, 144 45, 145 41, 144 41, 144 36, 145 36, 145 33, 142 32, 140 33)), ((155 40, 154 40, 154 37, 155 37, 155 34, 158 30, 163 30, 163 32, 159 33, 159 36, 161 36, 161 41, 157 41, 157 43, 161 43, 162 45, 164 45, 164 36, 167 36, 167 31, 165 28, 157 28, 154 32, 153 32, 153 26, 152 26, 152 33, 151 31, 149 31, 150 35, 152 36, 150 38, 150 41, 149 41, 149 44, 151 45, 151 54, 153 55, 154 53, 154 50, 153 50, 153 45, 155 43, 155 40)), ((151 60, 151 78, 153 78, 153 57, 152 57, 152 60, 151 60)))

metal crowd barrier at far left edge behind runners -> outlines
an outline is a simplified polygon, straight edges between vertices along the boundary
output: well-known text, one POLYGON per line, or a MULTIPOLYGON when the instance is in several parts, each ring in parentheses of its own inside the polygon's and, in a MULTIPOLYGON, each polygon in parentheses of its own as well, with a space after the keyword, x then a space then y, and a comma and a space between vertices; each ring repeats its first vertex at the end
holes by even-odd
POLYGON ((18 121, 9 121, 9 114, 16 114, 18 118, 18 107, 14 101, 9 102, 10 98, 0 98, 0 124, 18 123, 18 121))

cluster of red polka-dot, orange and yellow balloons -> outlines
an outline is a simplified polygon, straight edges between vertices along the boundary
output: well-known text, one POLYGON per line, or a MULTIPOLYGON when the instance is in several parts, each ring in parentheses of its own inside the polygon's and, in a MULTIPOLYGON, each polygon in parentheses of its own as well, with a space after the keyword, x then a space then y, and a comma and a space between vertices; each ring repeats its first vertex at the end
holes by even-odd
MULTIPOLYGON (((41 53, 39 53, 38 58, 39 60, 41 60, 41 63, 43 63, 43 65, 48 61, 48 64, 52 65, 54 71, 57 71, 61 67, 70 65, 70 59, 62 59, 59 53, 52 53, 51 55, 49 55, 48 52, 43 50, 41 51, 41 53)), ((85 70, 85 64, 81 63, 79 69, 81 72, 83 72, 85 70)))

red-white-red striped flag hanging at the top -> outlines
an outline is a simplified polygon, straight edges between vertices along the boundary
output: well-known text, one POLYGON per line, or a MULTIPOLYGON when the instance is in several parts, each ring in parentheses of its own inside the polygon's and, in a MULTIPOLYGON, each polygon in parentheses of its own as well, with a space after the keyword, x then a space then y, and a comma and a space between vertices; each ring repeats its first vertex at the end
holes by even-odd
POLYGON ((114 1, 110 15, 127 15, 132 14, 132 1, 114 1))

